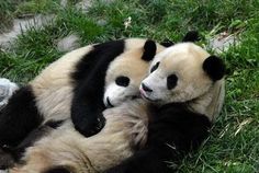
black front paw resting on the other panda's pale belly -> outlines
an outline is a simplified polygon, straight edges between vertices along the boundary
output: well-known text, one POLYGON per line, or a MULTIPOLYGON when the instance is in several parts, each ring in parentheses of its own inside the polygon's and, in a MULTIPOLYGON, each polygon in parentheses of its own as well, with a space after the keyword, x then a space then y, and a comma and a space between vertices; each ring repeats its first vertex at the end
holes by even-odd
POLYGON ((91 137, 102 130, 102 128, 105 126, 105 122, 106 119, 103 116, 99 116, 93 122, 82 122, 79 126, 76 126, 76 129, 85 137, 91 137))

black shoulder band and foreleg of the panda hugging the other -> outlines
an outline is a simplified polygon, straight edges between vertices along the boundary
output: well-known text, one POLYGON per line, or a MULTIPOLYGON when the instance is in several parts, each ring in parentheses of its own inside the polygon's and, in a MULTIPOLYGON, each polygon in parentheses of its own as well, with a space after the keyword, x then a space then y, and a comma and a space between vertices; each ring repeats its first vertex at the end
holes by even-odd
POLYGON ((105 74, 110 62, 124 51, 124 41, 93 46, 71 74, 75 82, 71 119, 75 128, 86 137, 99 132, 105 124, 102 116, 105 74))

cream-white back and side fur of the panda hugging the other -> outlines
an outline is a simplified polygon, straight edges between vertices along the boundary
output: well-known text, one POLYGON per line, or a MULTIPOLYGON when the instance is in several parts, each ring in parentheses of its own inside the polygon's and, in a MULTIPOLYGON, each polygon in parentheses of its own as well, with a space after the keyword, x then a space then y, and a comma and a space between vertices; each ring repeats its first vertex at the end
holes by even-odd
POLYGON ((64 55, 30 82, 37 108, 46 120, 70 117, 72 84, 69 77, 76 64, 91 49, 90 45, 64 55))

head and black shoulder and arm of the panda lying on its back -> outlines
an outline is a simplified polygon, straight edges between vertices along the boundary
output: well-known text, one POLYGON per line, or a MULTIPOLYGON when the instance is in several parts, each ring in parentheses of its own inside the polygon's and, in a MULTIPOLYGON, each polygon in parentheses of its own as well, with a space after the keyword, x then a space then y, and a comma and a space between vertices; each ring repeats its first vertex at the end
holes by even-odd
MULTIPOLYGON (((144 149, 105 173, 170 173, 207 138, 224 99, 225 66, 201 47, 184 43, 158 54, 142 95, 155 104, 144 149)), ((174 170, 177 171, 177 170, 174 170)))

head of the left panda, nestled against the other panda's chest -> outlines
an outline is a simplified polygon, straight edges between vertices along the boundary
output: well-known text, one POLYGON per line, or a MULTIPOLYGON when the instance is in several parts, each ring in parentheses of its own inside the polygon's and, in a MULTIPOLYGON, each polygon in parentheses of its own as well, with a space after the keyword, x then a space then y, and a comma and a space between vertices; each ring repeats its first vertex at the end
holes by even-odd
POLYGON ((110 64, 103 97, 106 107, 117 106, 126 100, 140 96, 139 84, 146 77, 156 53, 156 43, 146 41, 143 47, 124 51, 110 64))

